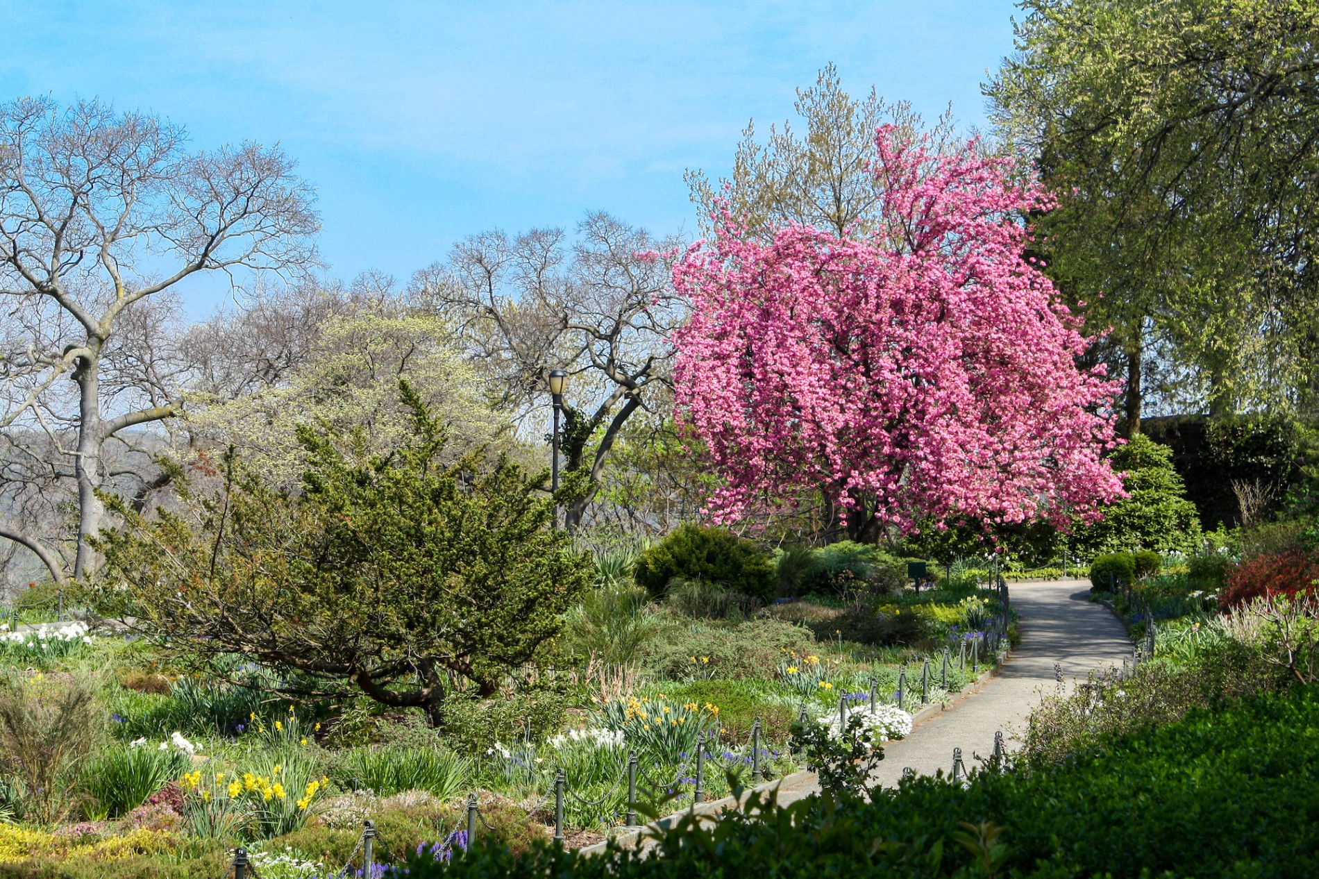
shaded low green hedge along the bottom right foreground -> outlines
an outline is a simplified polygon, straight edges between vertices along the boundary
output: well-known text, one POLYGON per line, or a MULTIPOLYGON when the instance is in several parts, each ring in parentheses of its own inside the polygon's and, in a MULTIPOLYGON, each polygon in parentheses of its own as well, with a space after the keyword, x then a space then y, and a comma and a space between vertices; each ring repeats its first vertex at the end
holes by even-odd
POLYGON ((1319 689, 1239 703, 1120 739, 1034 771, 967 787, 906 780, 874 802, 819 798, 714 830, 670 831, 661 854, 516 858, 477 842, 414 879, 679 879, 687 876, 1228 876, 1314 875, 1319 858, 1319 689), (997 834, 997 835, 996 835, 997 834), (995 838, 996 837, 996 838, 995 838), (976 839, 981 839, 980 843, 976 839), (980 854, 972 850, 979 849, 980 854), (988 858, 992 870, 977 863, 988 858))

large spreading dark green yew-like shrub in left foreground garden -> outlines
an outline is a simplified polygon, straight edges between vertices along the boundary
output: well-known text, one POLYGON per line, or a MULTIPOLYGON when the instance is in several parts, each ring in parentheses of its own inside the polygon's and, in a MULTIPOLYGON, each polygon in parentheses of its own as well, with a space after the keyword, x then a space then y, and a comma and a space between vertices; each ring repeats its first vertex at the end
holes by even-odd
POLYGON ((446 463, 448 434, 401 384, 412 430, 371 453, 364 430, 302 425, 302 491, 270 487, 228 455, 212 491, 185 491, 98 540, 90 601, 162 649, 218 672, 239 653, 342 696, 418 706, 443 726, 450 676, 493 694, 543 656, 592 564, 550 524, 547 474, 480 451, 446 463))

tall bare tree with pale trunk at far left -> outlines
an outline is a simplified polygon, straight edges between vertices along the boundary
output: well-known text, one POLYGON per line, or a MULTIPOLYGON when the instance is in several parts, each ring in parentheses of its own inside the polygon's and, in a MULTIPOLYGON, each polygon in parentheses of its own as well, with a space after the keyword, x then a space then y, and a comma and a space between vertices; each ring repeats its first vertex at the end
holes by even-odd
POLYGON ((73 569, 42 535, 0 536, 57 581, 94 570, 107 443, 179 407, 168 352, 135 344, 165 338, 148 298, 204 272, 309 267, 311 205, 277 149, 189 152, 182 128, 98 102, 0 106, 0 428, 44 434, 77 486, 73 569))

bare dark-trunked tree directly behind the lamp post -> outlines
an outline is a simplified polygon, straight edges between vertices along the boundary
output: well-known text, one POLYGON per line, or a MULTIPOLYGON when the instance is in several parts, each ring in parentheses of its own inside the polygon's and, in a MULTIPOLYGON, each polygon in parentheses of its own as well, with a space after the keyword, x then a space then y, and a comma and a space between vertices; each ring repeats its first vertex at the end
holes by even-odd
MULTIPOLYGON (((628 418, 671 387, 669 337, 685 315, 670 285, 677 240, 591 214, 570 248, 561 230, 474 235, 447 263, 418 272, 412 293, 454 322, 508 408, 543 412, 547 376, 570 376, 562 450, 567 470, 599 479, 628 418)), ((575 527, 594 492, 566 511, 575 527)))

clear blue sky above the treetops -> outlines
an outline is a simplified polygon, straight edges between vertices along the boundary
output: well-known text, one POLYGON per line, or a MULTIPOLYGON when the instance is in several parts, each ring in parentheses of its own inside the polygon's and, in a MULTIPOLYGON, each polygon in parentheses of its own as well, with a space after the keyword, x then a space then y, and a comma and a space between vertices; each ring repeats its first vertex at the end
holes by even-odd
MULTIPOLYGON (((406 278, 487 228, 607 210, 692 234, 748 119, 828 62, 926 117, 984 127, 1005 0, 194 3, 0 0, 0 99, 99 96, 194 146, 278 141, 319 193, 330 272, 406 278)), ((195 305, 202 305, 197 302, 195 305)))

